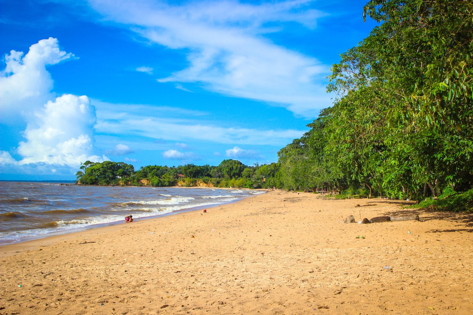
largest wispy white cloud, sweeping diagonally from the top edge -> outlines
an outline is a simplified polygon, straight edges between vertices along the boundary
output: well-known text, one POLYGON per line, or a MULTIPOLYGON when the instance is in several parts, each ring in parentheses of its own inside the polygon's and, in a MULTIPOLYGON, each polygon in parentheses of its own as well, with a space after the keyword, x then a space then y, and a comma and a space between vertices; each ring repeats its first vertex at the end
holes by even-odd
POLYGON ((247 4, 238 1, 90 0, 105 20, 114 21, 172 49, 187 53, 188 66, 159 82, 199 83, 228 96, 284 106, 316 117, 331 105, 324 77, 329 67, 315 58, 272 43, 264 37, 285 22, 308 28, 325 14, 307 9, 308 0, 247 4), (268 27, 268 24, 276 25, 268 27))

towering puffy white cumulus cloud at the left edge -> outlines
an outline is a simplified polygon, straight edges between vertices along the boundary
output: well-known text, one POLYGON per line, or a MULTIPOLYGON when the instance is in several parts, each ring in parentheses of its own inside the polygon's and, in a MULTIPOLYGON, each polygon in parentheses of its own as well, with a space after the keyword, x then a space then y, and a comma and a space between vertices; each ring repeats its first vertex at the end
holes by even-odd
POLYGON ((15 117, 15 125, 25 123, 26 130, 22 132, 25 140, 15 151, 18 160, 10 152, 0 152, 1 173, 70 175, 81 162, 107 159, 94 154, 96 110, 88 97, 55 97, 52 91, 53 79, 46 66, 71 58, 74 55, 62 51, 53 37, 31 45, 26 55, 12 50, 5 56, 0 120, 11 124, 10 118, 15 117))

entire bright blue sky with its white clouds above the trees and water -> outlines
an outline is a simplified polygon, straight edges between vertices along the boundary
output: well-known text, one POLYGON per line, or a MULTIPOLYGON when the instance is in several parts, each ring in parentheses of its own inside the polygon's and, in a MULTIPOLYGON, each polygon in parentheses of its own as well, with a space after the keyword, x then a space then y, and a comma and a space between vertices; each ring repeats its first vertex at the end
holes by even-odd
POLYGON ((365 3, 0 0, 0 179, 275 162, 331 106, 365 3))

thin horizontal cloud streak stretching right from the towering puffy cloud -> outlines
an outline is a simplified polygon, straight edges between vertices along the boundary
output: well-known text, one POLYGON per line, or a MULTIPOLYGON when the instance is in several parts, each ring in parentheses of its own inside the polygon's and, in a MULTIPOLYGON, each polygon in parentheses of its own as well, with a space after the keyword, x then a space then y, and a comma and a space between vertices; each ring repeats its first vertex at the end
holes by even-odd
POLYGON ((193 140, 232 145, 284 146, 305 131, 293 129, 256 129, 224 127, 204 121, 199 111, 152 105, 111 104, 94 101, 97 109, 95 130, 98 134, 138 136, 156 143, 174 141, 178 147, 193 140), (146 113, 146 116, 143 116, 146 113), (193 116, 195 114, 195 116, 193 116), (189 118, 177 118, 186 116, 189 118))

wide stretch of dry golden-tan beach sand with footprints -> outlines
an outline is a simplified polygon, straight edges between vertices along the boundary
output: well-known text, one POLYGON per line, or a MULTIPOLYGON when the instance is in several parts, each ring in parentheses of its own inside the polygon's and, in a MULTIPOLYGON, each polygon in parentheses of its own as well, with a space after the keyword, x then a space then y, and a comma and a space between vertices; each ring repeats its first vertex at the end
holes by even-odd
POLYGON ((3 246, 0 314, 472 314, 472 215, 402 203, 271 191, 3 246))

